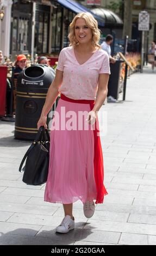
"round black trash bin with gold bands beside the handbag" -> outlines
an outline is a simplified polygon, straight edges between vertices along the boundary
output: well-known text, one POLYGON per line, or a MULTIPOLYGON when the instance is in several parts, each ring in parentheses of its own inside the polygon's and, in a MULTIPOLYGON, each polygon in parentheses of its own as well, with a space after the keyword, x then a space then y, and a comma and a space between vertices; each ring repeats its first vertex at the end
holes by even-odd
POLYGON ((55 71, 47 65, 32 65, 18 76, 15 138, 29 140, 35 138, 38 131, 37 123, 54 77, 55 71))

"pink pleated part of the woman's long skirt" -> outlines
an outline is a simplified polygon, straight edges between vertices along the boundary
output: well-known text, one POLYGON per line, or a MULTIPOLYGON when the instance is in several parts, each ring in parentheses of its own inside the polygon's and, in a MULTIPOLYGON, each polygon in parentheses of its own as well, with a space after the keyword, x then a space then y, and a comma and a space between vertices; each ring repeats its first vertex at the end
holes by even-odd
POLYGON ((90 105, 60 99, 55 111, 51 130, 45 201, 70 204, 77 200, 82 202, 96 200, 93 130, 91 125, 88 130, 84 129, 87 114, 82 123, 79 118, 80 112, 90 112, 90 105), (73 129, 69 129, 69 126, 73 125, 69 111, 76 113, 74 120, 76 120, 77 127, 74 126, 73 129), (59 118, 56 118, 58 114, 59 118), (63 119, 66 120, 68 129, 63 119), (81 128, 78 129, 78 126, 81 128))

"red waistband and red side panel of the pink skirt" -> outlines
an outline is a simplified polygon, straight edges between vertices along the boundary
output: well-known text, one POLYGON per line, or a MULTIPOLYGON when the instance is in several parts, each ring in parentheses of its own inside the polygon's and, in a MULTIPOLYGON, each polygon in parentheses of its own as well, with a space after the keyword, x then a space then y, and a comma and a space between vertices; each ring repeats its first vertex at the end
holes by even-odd
MULTIPOLYGON (((66 97, 64 94, 61 94, 61 99, 65 101, 73 102, 73 103, 90 104, 91 110, 93 109, 93 106, 95 104, 95 100, 73 100, 66 97)), ((99 135, 99 129, 97 128, 97 125, 95 123, 95 129, 93 130, 93 136, 94 136, 93 165, 94 165, 94 176, 95 176, 96 190, 97 190, 97 198, 95 203, 101 204, 103 203, 104 196, 108 193, 103 185, 103 179, 104 179, 103 155, 102 155, 101 140, 98 135, 99 135)))

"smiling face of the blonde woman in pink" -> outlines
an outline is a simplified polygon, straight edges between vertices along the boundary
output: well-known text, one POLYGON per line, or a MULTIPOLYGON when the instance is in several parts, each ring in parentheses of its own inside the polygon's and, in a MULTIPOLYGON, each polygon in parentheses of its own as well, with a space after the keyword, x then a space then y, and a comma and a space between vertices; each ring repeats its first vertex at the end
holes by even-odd
POLYGON ((74 33, 79 44, 89 44, 92 40, 92 29, 86 25, 83 18, 78 18, 75 26, 74 33))

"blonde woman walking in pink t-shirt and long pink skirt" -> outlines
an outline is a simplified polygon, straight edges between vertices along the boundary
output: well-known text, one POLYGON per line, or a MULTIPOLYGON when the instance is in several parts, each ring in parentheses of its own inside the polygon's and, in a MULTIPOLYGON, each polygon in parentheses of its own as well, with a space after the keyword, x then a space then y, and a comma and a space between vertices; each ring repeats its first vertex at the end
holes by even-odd
POLYGON ((90 218, 94 214, 95 203, 103 203, 107 194, 103 185, 97 112, 108 92, 109 57, 98 45, 100 32, 97 21, 89 13, 74 17, 68 38, 70 46, 59 54, 55 79, 49 87, 38 121, 38 128, 41 125, 47 127, 47 114, 61 93, 52 121, 45 189, 45 201, 64 206, 65 217, 56 230, 59 233, 67 233, 74 228, 74 202, 80 199, 85 217, 90 218))

